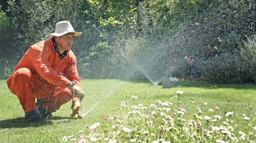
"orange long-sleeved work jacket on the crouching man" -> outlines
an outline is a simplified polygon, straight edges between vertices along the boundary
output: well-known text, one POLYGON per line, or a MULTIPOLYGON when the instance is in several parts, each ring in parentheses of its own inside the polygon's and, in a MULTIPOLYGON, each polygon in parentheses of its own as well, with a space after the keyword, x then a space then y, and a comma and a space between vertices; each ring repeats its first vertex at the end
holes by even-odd
MULTIPOLYGON (((33 44, 15 67, 28 68, 32 73, 37 73, 41 78, 60 88, 66 88, 71 81, 80 86, 80 79, 76 68, 76 57, 69 50, 65 58, 60 58, 54 51, 52 38, 33 44)), ((12 75, 7 79, 10 85, 12 75)), ((38 79, 38 78, 37 78, 38 79)), ((43 82, 38 80, 38 82, 43 82)), ((41 83, 38 83, 41 84, 41 83)))

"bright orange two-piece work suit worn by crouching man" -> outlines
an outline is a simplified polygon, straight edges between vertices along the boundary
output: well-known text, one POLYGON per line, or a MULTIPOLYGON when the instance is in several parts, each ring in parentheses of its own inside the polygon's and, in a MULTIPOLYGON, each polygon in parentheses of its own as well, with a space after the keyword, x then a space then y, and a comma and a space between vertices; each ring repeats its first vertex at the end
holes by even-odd
POLYGON ((54 112, 74 97, 66 88, 71 81, 80 86, 76 57, 69 50, 64 58, 54 51, 52 38, 33 44, 7 79, 10 91, 17 95, 24 111, 37 108, 35 98, 42 99, 44 108, 54 112))

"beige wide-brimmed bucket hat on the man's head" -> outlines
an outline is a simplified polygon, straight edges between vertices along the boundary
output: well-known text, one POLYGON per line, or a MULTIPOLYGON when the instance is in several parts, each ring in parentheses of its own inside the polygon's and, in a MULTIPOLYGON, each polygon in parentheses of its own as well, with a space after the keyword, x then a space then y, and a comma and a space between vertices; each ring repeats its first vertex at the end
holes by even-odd
POLYGON ((62 36, 67 33, 74 33, 74 36, 80 36, 82 32, 74 31, 74 28, 69 21, 60 21, 56 24, 55 32, 48 34, 48 36, 62 36))

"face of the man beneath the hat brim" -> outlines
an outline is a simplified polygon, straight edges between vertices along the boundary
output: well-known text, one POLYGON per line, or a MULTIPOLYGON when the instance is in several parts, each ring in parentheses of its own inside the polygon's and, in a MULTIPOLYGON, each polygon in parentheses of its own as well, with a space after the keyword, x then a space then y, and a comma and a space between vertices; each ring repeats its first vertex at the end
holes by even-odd
POLYGON ((74 33, 68 33, 55 38, 59 48, 63 51, 70 50, 74 43, 74 33))

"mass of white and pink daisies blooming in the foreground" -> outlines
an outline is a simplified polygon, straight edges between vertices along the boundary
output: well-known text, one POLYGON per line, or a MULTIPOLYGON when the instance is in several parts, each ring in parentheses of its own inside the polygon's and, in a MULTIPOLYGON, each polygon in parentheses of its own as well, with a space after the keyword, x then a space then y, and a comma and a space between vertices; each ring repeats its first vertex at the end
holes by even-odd
MULTIPOLYGON (((171 98, 179 101, 182 91, 177 91, 177 95, 171 98)), ((133 97, 134 98, 134 97, 133 97)), ((137 99, 137 98, 135 98, 137 99)), ((192 99, 192 98, 191 98, 192 99)), ((227 102, 230 102, 228 98, 227 102)), ((107 116, 104 133, 98 133, 97 128, 101 127, 99 122, 89 126, 89 135, 80 132, 79 139, 74 136, 65 136, 62 142, 73 141, 85 142, 255 142, 256 141, 256 118, 249 114, 234 113, 225 111, 220 114, 219 107, 202 111, 201 107, 196 107, 196 112, 186 110, 171 102, 156 100, 149 106, 143 104, 132 105, 128 101, 122 101, 121 109, 128 110, 123 117, 107 116), (233 119, 238 118, 238 122, 233 119), (238 124, 241 125, 239 126, 238 124), (244 130, 241 130, 244 129, 244 130)), ((203 103, 207 107, 207 103, 203 103)), ((252 106, 250 106, 250 109, 252 106)))

